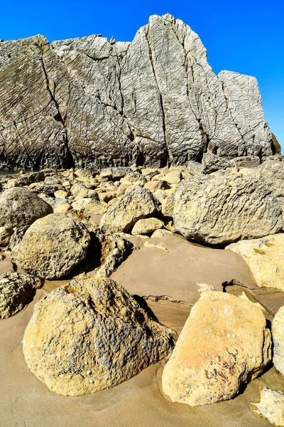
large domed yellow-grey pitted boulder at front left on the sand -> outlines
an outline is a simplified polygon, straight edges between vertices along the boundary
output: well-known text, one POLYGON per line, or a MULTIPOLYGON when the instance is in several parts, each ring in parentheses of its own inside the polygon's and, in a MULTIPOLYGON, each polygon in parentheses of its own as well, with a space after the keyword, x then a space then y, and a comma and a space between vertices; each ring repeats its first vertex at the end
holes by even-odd
POLYGON ((173 342, 172 332, 148 317, 121 285, 88 278, 35 305, 23 354, 51 391, 79 396, 126 381, 166 357, 173 342))

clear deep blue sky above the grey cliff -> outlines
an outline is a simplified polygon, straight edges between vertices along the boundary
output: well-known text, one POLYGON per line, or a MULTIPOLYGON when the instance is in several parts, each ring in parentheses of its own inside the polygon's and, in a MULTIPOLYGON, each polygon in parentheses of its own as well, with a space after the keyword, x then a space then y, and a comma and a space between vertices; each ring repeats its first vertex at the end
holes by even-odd
POLYGON ((53 41, 102 33, 131 41, 149 15, 167 12, 199 34, 215 73, 256 76, 266 120, 284 152, 283 0, 3 1, 0 38, 40 33, 53 41))

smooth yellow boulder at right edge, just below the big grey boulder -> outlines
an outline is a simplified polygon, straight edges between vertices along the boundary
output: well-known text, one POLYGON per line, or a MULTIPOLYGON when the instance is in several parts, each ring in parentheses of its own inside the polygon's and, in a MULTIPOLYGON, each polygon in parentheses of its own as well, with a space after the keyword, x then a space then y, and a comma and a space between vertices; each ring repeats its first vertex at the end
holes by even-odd
POLYGON ((244 258, 258 286, 284 291, 283 233, 231 243, 226 249, 244 258))

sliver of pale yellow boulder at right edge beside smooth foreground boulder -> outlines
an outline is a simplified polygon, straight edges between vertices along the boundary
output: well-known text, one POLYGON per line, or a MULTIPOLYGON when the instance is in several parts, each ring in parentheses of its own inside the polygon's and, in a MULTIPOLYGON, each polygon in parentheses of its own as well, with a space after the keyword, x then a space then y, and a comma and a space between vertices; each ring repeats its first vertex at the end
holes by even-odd
POLYGON ((271 325, 273 338, 273 364, 284 375, 284 306, 275 314, 271 325))

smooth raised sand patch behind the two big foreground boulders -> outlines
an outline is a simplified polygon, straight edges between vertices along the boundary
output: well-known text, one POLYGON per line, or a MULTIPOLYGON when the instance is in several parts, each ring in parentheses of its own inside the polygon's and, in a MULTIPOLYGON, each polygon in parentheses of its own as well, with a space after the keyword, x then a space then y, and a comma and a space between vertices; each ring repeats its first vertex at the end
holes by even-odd
POLYGON ((200 297, 197 283, 223 290, 222 283, 236 279, 246 287, 255 287, 248 266, 232 251, 207 248, 170 234, 149 239, 168 252, 144 247, 145 240, 141 238, 130 240, 140 249, 133 251, 111 278, 131 294, 167 296, 193 305, 200 297))

